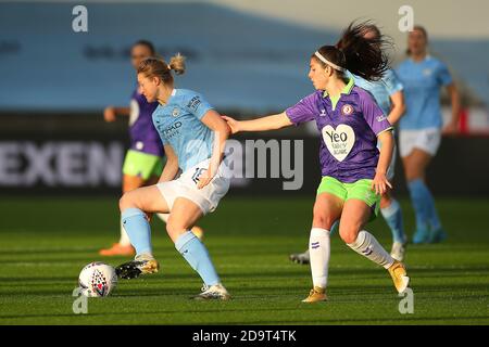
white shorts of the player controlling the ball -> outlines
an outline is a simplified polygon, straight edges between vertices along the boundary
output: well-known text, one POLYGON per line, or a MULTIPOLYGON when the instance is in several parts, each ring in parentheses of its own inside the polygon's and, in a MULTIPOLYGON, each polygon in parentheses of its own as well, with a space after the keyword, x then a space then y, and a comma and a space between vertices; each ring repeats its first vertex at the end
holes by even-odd
POLYGON ((199 176, 209 168, 209 162, 210 159, 199 163, 185 172, 181 172, 173 181, 156 184, 168 204, 170 211, 172 211, 173 204, 177 197, 190 200, 200 207, 204 215, 215 210, 221 198, 229 190, 230 175, 228 175, 227 167, 223 160, 212 181, 204 188, 198 189, 199 176))

